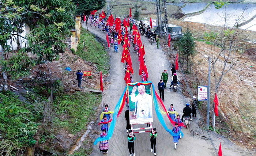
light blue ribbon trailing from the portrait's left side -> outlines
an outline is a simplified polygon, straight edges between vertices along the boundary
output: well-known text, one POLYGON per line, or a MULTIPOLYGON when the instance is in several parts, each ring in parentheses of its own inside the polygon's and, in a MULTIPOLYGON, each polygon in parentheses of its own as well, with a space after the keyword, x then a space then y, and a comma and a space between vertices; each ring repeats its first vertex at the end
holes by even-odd
POLYGON ((110 124, 110 126, 109 126, 109 130, 108 130, 107 136, 106 136, 106 137, 103 137, 103 138, 98 137, 98 138, 94 141, 94 143, 93 143, 94 145, 96 145, 97 142, 99 142, 99 141, 109 140, 109 139, 112 137, 112 134, 113 134, 113 131, 114 131, 114 126, 115 126, 115 124, 116 124, 116 118, 117 118, 117 114, 118 114, 118 109, 119 109, 119 107, 120 107, 120 105, 121 105, 121 101, 122 101, 122 99, 123 99, 123 97, 124 97, 124 94, 125 94, 126 89, 127 89, 127 86, 124 88, 124 92, 123 92, 123 94, 121 95, 120 99, 118 100, 118 102, 117 102, 117 104, 116 104, 116 107, 115 107, 115 109, 114 109, 112 121, 111 121, 111 124, 110 124))

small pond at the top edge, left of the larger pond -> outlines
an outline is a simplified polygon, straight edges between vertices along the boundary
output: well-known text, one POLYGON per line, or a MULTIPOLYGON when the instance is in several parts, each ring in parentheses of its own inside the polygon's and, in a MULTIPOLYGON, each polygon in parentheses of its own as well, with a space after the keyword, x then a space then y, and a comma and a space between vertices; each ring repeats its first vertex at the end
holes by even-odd
POLYGON ((184 14, 189 14, 204 9, 206 5, 207 3, 187 3, 181 10, 184 14))

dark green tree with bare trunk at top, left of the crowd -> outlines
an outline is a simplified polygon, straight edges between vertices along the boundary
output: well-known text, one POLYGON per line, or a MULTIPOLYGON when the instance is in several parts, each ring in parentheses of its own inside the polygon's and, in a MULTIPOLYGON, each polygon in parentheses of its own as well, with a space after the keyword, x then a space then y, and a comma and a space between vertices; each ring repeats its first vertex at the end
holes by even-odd
POLYGON ((105 0, 73 0, 73 1, 76 4, 76 14, 79 14, 79 15, 84 14, 86 16, 86 27, 87 27, 87 31, 89 31, 88 19, 89 19, 89 15, 91 14, 91 11, 94 11, 94 10, 99 11, 99 9, 105 6, 106 1, 105 0))

